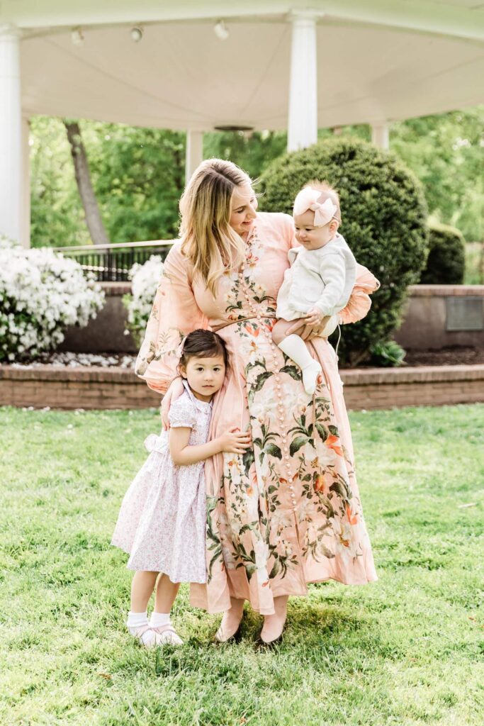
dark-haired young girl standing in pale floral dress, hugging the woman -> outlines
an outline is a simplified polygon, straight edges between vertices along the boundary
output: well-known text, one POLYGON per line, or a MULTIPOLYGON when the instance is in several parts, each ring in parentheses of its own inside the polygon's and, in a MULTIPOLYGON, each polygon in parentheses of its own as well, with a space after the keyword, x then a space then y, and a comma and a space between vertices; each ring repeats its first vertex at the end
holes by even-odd
POLYGON ((216 333, 194 330, 186 336, 179 365, 184 393, 171 403, 169 430, 144 442, 151 453, 121 505, 112 544, 128 552, 128 568, 136 570, 127 626, 147 647, 181 645, 170 621, 180 582, 207 581, 203 460, 219 452, 244 454, 250 445, 249 434, 237 429, 207 441, 212 398, 227 367, 226 347, 216 333))

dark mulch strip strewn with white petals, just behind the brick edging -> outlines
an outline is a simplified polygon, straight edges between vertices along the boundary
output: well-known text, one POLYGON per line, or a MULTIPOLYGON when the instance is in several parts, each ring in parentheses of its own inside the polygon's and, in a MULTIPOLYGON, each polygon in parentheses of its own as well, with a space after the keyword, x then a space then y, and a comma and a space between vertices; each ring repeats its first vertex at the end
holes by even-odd
MULTIPOLYGON (((26 365, 97 365, 106 368, 134 368, 136 356, 116 353, 51 353, 43 354, 31 363, 13 363, 15 367, 26 365)), ((484 349, 478 348, 443 348, 440 351, 407 351, 403 365, 416 367, 421 365, 475 365, 484 363, 484 349)), ((343 366, 342 366, 343 367, 343 366)), ((362 366, 364 367, 364 366, 362 366)))

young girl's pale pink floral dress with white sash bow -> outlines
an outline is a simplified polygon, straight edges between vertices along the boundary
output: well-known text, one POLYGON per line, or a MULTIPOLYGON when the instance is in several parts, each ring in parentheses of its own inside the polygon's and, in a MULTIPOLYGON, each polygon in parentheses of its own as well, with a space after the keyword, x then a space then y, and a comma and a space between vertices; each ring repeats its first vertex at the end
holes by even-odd
MULTIPOLYGON (((185 385, 170 408, 173 427, 191 428, 189 446, 205 444, 212 404, 185 385)), ((171 582, 207 582, 203 462, 176 466, 168 431, 144 442, 150 452, 121 505, 111 544, 128 552, 128 568, 164 572, 171 582)))

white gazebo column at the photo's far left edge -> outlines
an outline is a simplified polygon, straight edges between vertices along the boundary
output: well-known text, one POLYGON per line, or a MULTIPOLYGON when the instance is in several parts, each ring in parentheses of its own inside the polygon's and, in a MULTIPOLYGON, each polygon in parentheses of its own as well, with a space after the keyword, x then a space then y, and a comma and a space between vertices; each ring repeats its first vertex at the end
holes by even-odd
POLYGON ((0 234, 22 238, 20 33, 0 25, 0 234))

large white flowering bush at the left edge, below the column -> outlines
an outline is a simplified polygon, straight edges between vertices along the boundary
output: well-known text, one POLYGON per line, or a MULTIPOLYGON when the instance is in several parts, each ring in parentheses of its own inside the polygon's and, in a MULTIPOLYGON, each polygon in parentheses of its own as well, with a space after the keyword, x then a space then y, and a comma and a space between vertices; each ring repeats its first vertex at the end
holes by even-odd
POLYGON ((87 325, 103 304, 100 285, 75 260, 0 238, 0 362, 56 348, 68 325, 87 325))

